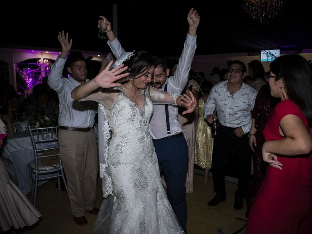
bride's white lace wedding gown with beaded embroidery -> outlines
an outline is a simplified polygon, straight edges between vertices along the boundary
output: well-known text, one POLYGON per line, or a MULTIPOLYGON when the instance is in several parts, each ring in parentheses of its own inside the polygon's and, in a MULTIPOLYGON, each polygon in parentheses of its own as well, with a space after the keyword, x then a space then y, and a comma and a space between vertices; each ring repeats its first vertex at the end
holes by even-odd
MULTIPOLYGON (((153 114, 151 97, 153 101, 166 101, 167 98, 166 102, 169 103, 174 97, 164 96, 162 91, 154 88, 151 90, 151 96, 149 88, 142 93, 142 109, 126 96, 121 87, 115 88, 116 92, 111 94, 99 92, 85 98, 97 100, 104 106, 113 132, 106 151, 106 169, 111 176, 106 178, 107 188, 103 188, 105 196, 105 190, 107 192, 113 186, 111 226, 109 231, 97 227, 94 233, 103 233, 98 230, 106 230, 105 233, 111 234, 184 233, 160 182, 157 156, 149 132, 149 121, 153 114)), ((101 168, 103 174, 103 165, 101 168)), ((97 220, 95 227, 107 225, 100 222, 97 220)))

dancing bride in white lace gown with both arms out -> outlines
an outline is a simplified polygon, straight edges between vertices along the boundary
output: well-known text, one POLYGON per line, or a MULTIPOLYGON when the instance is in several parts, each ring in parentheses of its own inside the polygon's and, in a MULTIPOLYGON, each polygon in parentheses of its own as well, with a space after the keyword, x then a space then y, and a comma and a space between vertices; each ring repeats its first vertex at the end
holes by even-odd
POLYGON ((185 113, 190 113, 195 109, 195 99, 193 95, 184 98, 150 87, 154 59, 146 52, 127 52, 114 65, 122 62, 124 68, 120 65, 109 71, 110 63, 96 78, 72 92, 72 98, 97 101, 109 124, 104 124, 104 132, 108 135, 108 130, 112 131, 100 172, 106 176, 104 197, 114 195, 113 209, 107 214, 103 210, 109 207, 102 205, 94 233, 182 234, 160 181, 149 121, 152 101, 183 105, 188 108, 185 113), (124 70, 130 74, 119 75, 124 70), (109 73, 114 78, 109 79, 109 73), (98 89, 120 85, 113 82, 125 75, 121 86, 98 89), (110 228, 104 218, 110 219, 110 228))

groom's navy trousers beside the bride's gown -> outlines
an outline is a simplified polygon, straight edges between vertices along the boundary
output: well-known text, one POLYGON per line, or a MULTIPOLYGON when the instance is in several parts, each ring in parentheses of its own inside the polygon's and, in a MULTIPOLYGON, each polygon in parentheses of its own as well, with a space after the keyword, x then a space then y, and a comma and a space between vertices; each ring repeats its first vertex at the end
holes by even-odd
POLYGON ((188 147, 182 133, 153 140, 160 173, 167 183, 167 196, 181 228, 186 232, 187 207, 185 179, 188 167, 188 147))

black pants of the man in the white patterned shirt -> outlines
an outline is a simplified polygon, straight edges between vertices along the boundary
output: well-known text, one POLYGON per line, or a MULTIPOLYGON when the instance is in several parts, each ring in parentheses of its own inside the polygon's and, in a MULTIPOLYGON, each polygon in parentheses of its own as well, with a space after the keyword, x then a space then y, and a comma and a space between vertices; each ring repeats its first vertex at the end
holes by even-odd
POLYGON ((234 149, 234 155, 238 165, 238 195, 244 197, 251 179, 252 151, 249 146, 248 134, 236 137, 235 128, 220 125, 214 138, 213 150, 213 179, 214 191, 225 195, 225 166, 227 155, 234 149))

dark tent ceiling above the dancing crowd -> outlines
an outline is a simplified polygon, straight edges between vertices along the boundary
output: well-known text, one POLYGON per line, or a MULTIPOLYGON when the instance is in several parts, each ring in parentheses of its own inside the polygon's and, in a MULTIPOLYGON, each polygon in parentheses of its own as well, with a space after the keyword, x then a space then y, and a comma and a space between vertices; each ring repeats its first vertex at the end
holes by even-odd
MULTIPOLYGON (((284 1, 284 8, 268 25, 252 20, 242 9, 241 0, 186 6, 159 2, 117 4, 118 38, 128 51, 144 49, 152 54, 179 56, 188 30, 186 15, 194 6, 201 15, 196 55, 312 49, 309 1, 284 1)), ((1 16, 0 46, 60 48, 57 34, 66 30, 73 38, 72 49, 108 52, 106 41, 97 37, 98 15, 102 14, 111 20, 112 4, 90 3, 75 10, 64 6, 45 10, 39 6, 15 7, 9 17, 1 16), (62 13, 63 8, 67 14, 62 13)))

